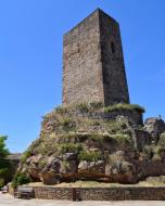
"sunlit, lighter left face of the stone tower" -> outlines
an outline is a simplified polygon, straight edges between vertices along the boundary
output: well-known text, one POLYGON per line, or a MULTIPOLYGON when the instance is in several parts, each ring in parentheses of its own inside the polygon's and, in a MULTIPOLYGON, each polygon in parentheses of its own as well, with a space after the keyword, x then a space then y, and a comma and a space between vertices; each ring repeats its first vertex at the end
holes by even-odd
POLYGON ((63 103, 103 101, 99 15, 94 12, 64 35, 63 103))

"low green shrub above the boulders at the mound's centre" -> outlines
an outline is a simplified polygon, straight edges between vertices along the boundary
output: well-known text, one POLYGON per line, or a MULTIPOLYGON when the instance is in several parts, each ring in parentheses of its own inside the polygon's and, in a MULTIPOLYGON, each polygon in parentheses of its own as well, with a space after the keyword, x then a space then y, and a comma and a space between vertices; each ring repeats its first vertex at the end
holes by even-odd
POLYGON ((93 151, 93 152, 86 152, 81 151, 78 155, 79 160, 87 160, 87 162, 97 162, 97 160, 102 160, 103 155, 101 152, 93 151))

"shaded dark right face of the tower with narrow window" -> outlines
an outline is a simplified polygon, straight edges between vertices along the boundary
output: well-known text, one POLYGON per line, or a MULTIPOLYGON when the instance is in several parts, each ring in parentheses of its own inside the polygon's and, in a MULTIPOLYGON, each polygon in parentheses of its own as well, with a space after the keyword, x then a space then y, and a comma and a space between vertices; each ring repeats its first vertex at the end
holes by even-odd
POLYGON ((104 103, 129 103, 119 25, 100 12, 104 103))

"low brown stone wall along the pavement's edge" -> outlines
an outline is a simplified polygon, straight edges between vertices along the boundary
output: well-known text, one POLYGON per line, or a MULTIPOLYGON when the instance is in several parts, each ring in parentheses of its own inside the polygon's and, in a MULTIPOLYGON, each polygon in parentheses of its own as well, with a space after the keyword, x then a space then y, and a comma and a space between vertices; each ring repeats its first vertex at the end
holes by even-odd
POLYGON ((34 186, 35 198, 80 199, 80 201, 163 201, 165 188, 120 186, 120 188, 53 188, 34 186))

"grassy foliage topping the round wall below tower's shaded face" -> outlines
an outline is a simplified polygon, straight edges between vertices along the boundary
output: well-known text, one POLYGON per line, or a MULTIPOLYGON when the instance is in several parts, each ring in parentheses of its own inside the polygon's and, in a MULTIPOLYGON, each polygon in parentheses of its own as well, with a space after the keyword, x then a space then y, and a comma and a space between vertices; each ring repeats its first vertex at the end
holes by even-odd
POLYGON ((138 104, 114 104, 104 108, 105 113, 111 113, 114 111, 137 111, 139 113, 145 112, 145 110, 138 104))

